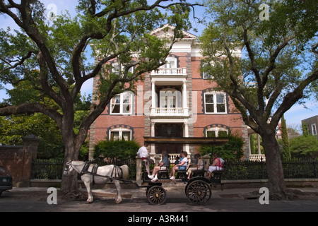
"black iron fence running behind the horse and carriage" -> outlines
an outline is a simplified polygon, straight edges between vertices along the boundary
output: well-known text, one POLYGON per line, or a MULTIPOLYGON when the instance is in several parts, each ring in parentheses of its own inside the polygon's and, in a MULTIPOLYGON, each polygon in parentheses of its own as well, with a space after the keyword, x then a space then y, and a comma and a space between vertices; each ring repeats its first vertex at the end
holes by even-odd
MULTIPOLYGON (((136 159, 128 160, 93 160, 98 165, 128 165, 129 179, 136 179, 136 159)), ((172 164, 173 165, 173 164, 172 164)), ((153 168, 151 165, 151 169, 153 168)), ((318 159, 283 160, 285 179, 318 178, 318 159)), ((63 160, 36 160, 33 162, 31 179, 61 179, 63 160)), ((266 162, 250 160, 230 160, 224 165, 223 179, 267 179, 266 162)))

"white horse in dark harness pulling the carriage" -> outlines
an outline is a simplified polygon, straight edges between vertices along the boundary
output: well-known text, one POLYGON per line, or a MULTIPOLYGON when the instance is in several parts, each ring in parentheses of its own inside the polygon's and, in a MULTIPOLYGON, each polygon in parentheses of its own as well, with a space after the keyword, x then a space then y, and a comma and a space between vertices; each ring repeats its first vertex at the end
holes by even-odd
POLYGON ((75 170, 81 175, 81 179, 84 182, 87 192, 88 192, 88 199, 86 203, 93 203, 93 193, 92 189, 90 188, 91 184, 95 182, 95 184, 105 184, 106 182, 109 182, 110 179, 114 179, 114 184, 117 189, 117 198, 115 199, 115 203, 119 204, 122 202, 122 196, 121 191, 122 188, 119 184, 118 179, 126 179, 129 174, 129 167, 127 165, 122 165, 121 167, 117 167, 114 165, 105 165, 98 167, 96 172, 92 172, 93 170, 93 164, 90 165, 87 169, 83 168, 86 166, 86 162, 83 161, 69 161, 66 163, 66 167, 64 169, 64 175, 68 176, 70 172, 75 170), (120 169, 121 170, 120 170, 120 169), (119 170, 118 170, 119 169, 119 170), (100 177, 100 176, 106 176, 106 177, 100 177))

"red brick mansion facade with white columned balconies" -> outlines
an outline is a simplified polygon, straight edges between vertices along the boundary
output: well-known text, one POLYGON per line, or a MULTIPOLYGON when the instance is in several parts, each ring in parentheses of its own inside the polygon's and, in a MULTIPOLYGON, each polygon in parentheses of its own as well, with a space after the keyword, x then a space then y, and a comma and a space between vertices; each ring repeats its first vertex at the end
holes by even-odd
MULTIPOLYGON (((161 32, 158 29, 152 33, 160 36, 161 32)), ((133 101, 118 96, 112 102, 117 104, 110 103, 96 119, 90 128, 90 151, 95 143, 105 139, 128 138, 143 144, 143 136, 225 136, 237 131, 246 140, 245 157, 249 155, 247 126, 230 97, 216 92, 216 83, 200 72, 202 57, 196 37, 184 34, 184 40, 172 48, 165 69, 147 73, 144 81, 136 84, 133 101), (154 94, 155 98, 151 98, 154 94)), ((150 149, 155 155, 166 149, 170 154, 180 150, 194 154, 197 148, 152 145, 150 149)))

